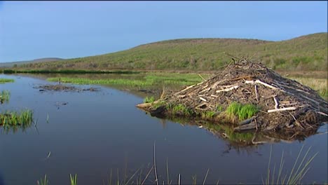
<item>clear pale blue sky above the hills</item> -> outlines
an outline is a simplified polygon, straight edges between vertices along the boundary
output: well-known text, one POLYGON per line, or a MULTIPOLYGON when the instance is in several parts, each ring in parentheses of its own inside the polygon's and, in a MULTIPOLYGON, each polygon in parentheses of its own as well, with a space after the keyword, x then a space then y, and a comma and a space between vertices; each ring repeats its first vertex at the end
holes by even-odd
POLYGON ((327 1, 0 1, 0 62, 83 57, 182 38, 327 32, 327 1))

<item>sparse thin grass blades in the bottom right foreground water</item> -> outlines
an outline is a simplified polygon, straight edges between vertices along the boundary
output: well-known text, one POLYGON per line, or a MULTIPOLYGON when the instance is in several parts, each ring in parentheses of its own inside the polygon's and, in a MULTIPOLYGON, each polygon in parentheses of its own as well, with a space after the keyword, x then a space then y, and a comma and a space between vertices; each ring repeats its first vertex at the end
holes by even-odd
POLYGON ((303 177, 306 175, 308 170, 310 170, 310 163, 313 161, 315 156, 317 156, 317 153, 315 153, 313 156, 308 156, 308 153, 311 149, 311 146, 308 148, 308 151, 306 151, 305 154, 302 154, 304 145, 301 147, 299 154, 294 162, 294 165, 292 167, 292 170, 288 172, 286 169, 284 169, 284 152, 282 151, 282 156, 280 159, 280 165, 278 169, 278 177, 276 177, 277 174, 275 174, 275 165, 273 167, 273 170, 271 170, 271 154, 272 154, 272 146, 270 151, 270 158, 268 161, 268 170, 266 175, 266 181, 263 181, 263 184, 301 184, 301 181, 303 177), (303 158, 301 157, 303 155, 303 158), (302 158, 301 161, 299 161, 300 157, 302 158), (284 175, 285 174, 285 175, 284 175))

